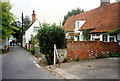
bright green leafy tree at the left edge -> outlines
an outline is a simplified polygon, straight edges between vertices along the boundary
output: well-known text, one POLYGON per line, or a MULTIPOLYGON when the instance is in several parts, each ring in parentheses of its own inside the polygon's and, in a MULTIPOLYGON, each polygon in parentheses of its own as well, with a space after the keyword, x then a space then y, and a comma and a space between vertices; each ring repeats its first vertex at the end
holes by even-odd
POLYGON ((2 4, 2 39, 10 37, 12 33, 15 33, 14 30, 19 30, 18 28, 11 25, 15 21, 15 16, 10 12, 12 5, 9 1, 0 1, 2 4))

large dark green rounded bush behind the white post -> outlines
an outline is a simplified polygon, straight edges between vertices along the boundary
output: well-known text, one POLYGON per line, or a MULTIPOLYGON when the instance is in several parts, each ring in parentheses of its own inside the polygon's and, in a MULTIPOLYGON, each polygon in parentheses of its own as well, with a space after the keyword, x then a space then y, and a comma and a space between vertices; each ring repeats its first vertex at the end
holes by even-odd
POLYGON ((39 40, 40 52, 45 54, 48 65, 53 63, 54 44, 57 48, 65 48, 66 46, 65 31, 56 24, 43 24, 38 31, 37 39, 39 40))

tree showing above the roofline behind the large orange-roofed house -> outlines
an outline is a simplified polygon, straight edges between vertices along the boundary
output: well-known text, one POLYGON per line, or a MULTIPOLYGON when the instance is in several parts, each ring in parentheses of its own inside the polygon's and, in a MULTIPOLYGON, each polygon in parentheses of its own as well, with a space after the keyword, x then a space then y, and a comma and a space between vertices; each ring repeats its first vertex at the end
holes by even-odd
POLYGON ((65 22, 67 21, 67 19, 68 19, 70 16, 72 16, 72 15, 77 15, 77 14, 82 13, 82 12, 84 12, 84 10, 83 10, 83 9, 81 10, 80 8, 73 9, 72 11, 68 11, 67 15, 64 16, 64 20, 63 20, 63 22, 62 22, 62 25, 65 24, 65 22))

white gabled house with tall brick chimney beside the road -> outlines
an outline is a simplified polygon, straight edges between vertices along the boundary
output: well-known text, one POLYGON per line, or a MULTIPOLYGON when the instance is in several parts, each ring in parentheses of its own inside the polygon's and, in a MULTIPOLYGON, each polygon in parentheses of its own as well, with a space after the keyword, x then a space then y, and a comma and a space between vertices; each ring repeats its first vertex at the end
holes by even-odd
POLYGON ((35 11, 33 10, 32 23, 24 31, 24 34, 23 34, 23 47, 25 47, 25 45, 29 43, 29 41, 31 40, 31 35, 33 36, 37 35, 37 32, 39 29, 40 29, 40 22, 38 19, 36 19, 36 14, 35 14, 35 11))

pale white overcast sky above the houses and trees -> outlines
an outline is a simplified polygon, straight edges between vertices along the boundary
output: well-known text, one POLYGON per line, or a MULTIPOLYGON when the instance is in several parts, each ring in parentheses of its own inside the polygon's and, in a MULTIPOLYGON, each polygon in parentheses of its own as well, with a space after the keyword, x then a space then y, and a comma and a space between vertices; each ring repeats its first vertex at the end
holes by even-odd
MULTIPOLYGON (((110 0, 114 3, 115 0, 110 0)), ((11 0, 11 12, 21 21, 21 14, 32 18, 35 10, 36 18, 42 23, 59 24, 68 11, 75 8, 89 11, 100 6, 100 0, 11 0)), ((32 20, 32 19, 31 19, 32 20)))

